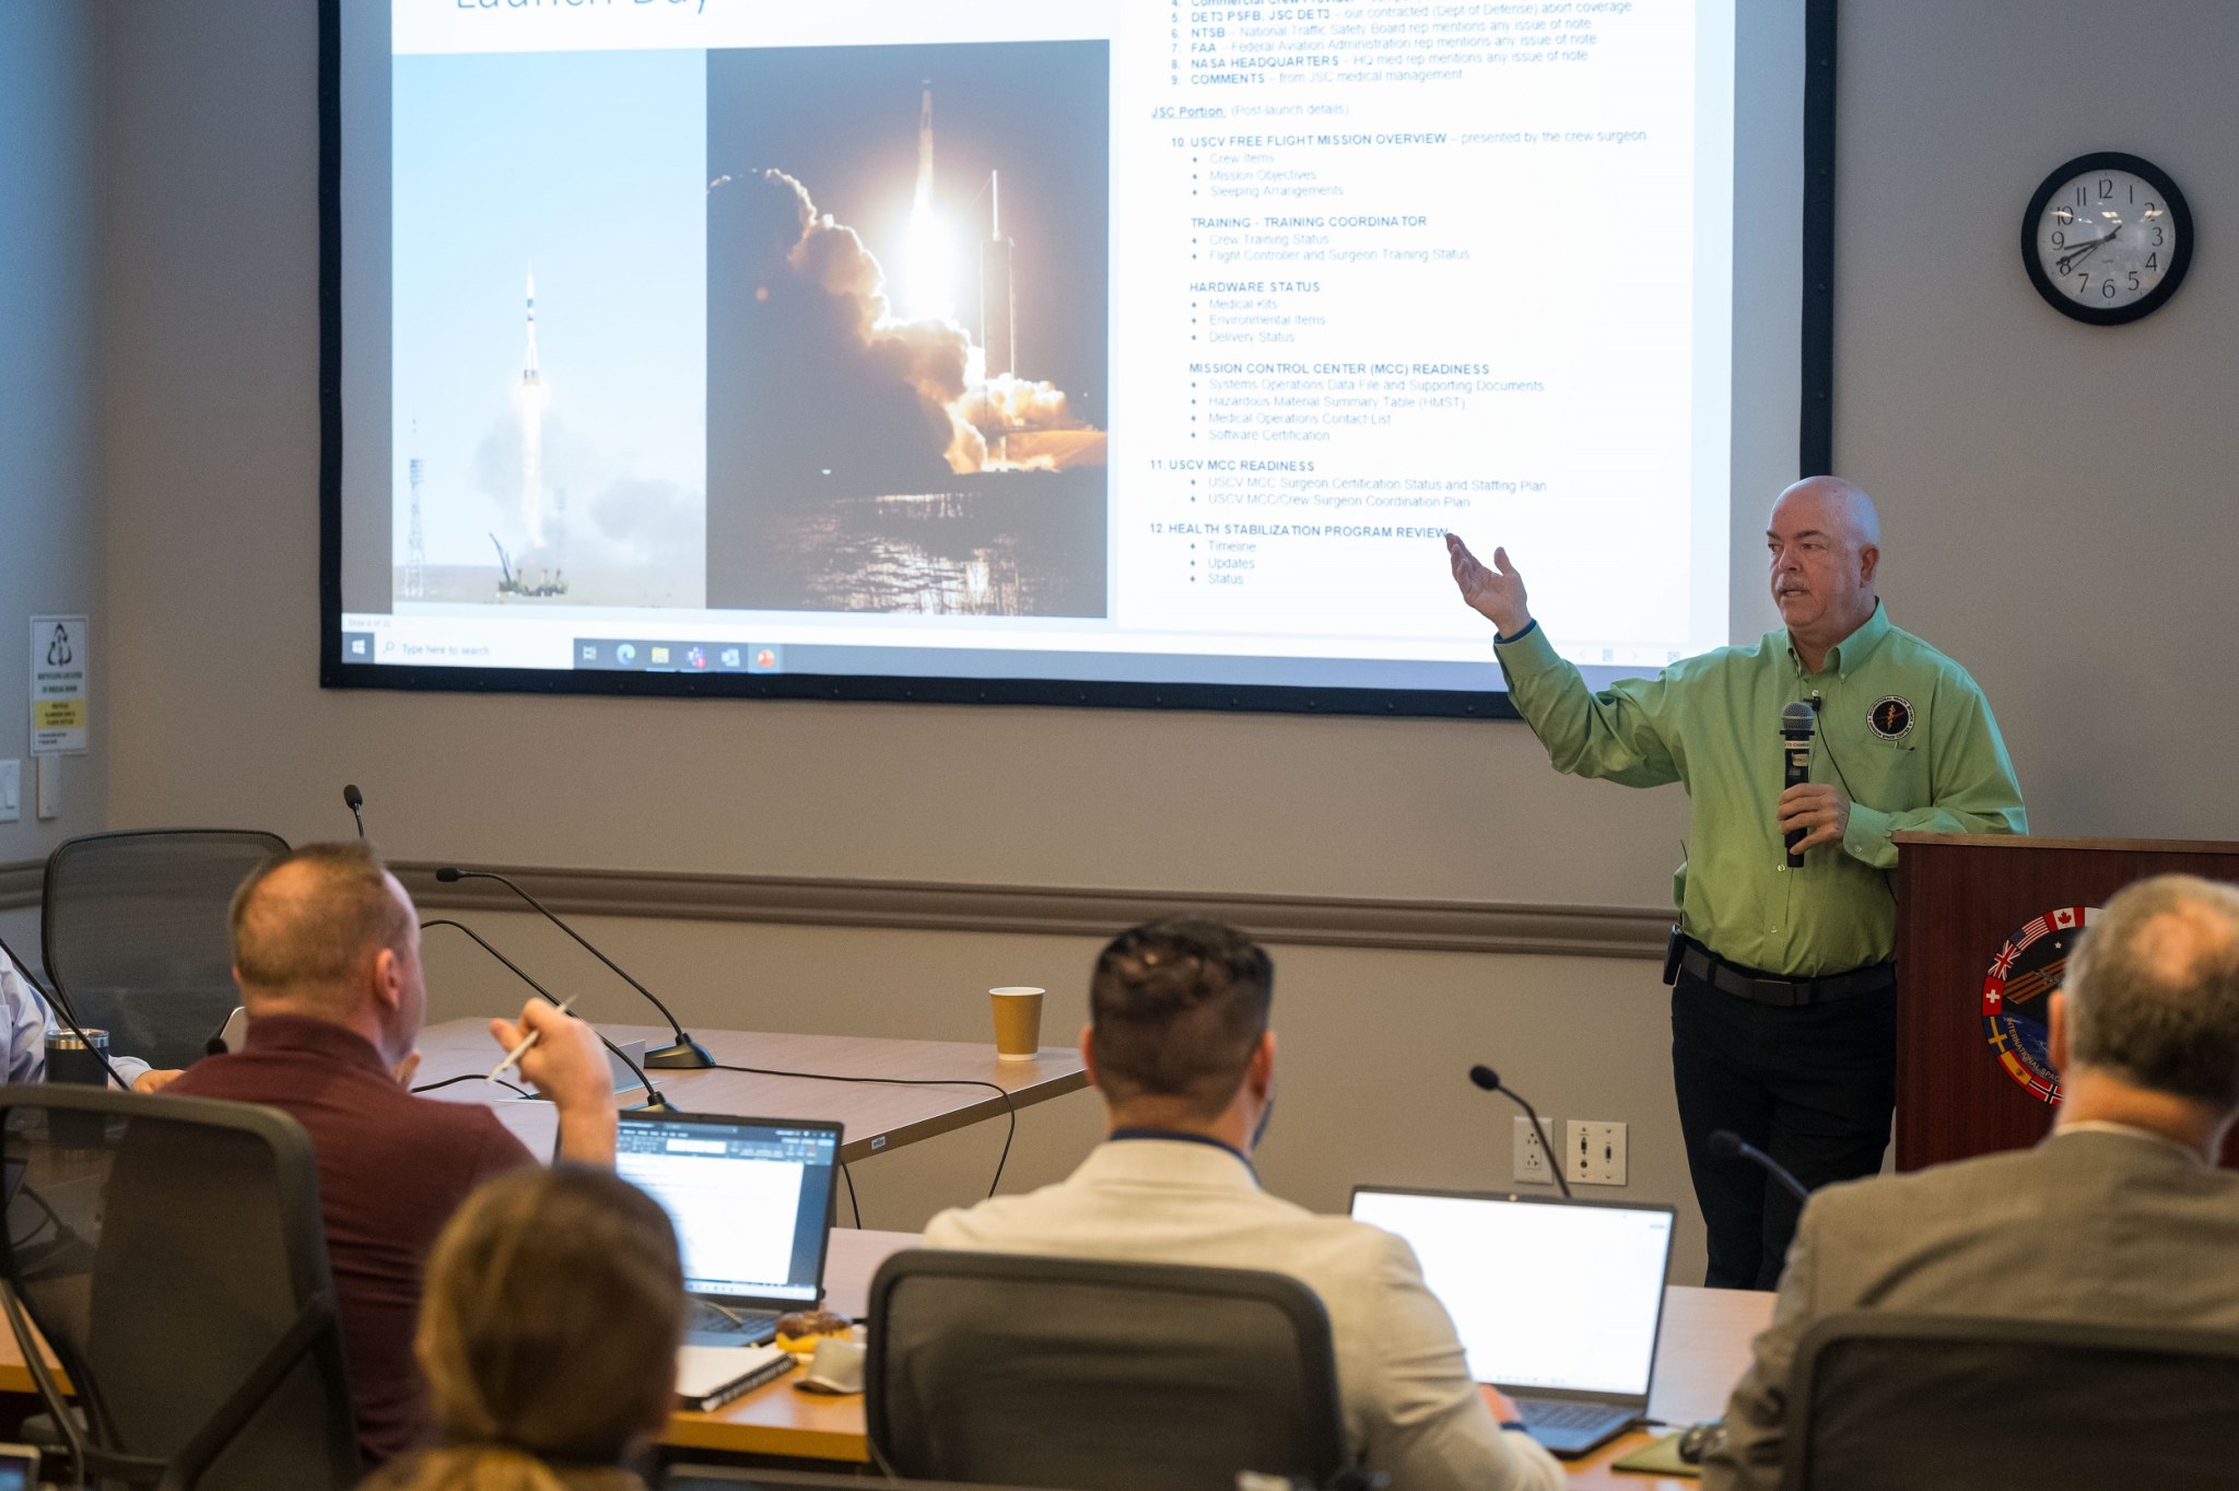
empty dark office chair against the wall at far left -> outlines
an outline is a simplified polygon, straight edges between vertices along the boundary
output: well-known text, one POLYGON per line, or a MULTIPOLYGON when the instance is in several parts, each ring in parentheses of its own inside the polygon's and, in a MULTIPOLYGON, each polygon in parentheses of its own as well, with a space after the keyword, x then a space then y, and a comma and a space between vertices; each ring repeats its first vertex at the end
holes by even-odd
POLYGON ((233 936, 226 909, 275 833, 157 828, 92 833, 47 855, 40 956, 69 1014, 110 1032, 110 1052, 188 1066, 226 1023, 233 936))

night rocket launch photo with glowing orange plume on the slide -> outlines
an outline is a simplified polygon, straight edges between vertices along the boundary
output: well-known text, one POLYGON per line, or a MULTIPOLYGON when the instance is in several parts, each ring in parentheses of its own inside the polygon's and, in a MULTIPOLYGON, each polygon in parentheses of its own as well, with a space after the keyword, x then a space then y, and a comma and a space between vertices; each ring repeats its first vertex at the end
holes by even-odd
POLYGON ((1104 43, 708 54, 708 602, 1102 616, 1104 43))

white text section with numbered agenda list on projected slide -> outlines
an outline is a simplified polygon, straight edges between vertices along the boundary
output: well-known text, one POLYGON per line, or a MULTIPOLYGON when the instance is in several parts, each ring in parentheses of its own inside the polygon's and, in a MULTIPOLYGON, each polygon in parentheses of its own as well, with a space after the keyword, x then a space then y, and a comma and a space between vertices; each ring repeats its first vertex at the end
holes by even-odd
POLYGON ((1695 338, 1726 334, 1695 325, 1695 9, 1144 11, 1115 58, 1115 618, 1482 645, 1453 528, 1677 645, 1695 338))

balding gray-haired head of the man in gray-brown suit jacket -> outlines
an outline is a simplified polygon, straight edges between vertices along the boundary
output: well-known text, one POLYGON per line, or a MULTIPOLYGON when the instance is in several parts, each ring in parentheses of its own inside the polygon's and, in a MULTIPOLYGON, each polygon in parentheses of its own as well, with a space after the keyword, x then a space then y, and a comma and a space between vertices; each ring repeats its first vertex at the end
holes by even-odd
POLYGON ((2192 875, 2123 889, 2060 992, 2071 1066, 2239 1108, 2239 889, 2192 875))

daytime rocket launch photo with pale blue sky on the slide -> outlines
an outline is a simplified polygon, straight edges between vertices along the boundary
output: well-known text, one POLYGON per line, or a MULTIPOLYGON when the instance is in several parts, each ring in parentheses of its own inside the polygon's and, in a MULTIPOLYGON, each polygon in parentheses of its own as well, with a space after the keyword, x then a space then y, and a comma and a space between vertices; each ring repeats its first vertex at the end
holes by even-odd
POLYGON ((396 58, 396 598, 705 604, 703 78, 396 58), (598 148, 519 128, 560 116, 598 148))

